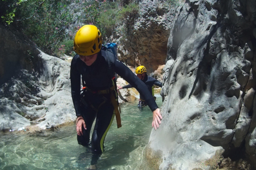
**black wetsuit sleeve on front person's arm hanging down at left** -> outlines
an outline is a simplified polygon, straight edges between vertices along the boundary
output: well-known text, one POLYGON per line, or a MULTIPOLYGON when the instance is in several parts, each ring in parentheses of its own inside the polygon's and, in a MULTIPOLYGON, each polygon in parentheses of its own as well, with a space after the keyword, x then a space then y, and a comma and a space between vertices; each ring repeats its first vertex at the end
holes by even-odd
POLYGON ((76 116, 81 116, 80 103, 81 74, 77 71, 77 56, 74 56, 70 66, 71 96, 76 111, 76 116))

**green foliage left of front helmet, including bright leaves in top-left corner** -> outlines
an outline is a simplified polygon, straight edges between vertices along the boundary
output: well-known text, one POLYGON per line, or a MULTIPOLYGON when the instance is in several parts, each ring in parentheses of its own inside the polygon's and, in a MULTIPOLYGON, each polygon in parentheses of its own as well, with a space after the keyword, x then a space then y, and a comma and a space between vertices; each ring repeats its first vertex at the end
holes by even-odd
POLYGON ((3 19, 1 22, 8 24, 13 22, 13 25, 33 39, 45 53, 53 54, 60 42, 67 39, 68 35, 65 31, 72 19, 67 8, 69 1, 0 1, 1 5, 4 4, 6 7, 6 12, 1 16, 3 19))

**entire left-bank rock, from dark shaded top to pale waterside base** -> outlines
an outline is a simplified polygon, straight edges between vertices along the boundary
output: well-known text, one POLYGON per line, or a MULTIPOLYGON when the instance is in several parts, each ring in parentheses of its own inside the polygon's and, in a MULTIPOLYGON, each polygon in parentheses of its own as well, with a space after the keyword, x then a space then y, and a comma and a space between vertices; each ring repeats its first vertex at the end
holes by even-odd
POLYGON ((3 27, 0 35, 5 40, 0 47, 0 129, 42 130, 75 121, 70 64, 3 27))

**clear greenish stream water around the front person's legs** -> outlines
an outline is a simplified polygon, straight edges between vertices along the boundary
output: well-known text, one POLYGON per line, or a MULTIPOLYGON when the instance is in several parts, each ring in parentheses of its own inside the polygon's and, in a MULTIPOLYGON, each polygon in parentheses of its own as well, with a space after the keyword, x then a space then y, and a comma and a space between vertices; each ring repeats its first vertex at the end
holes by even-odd
MULTIPOLYGON (((162 105, 159 96, 157 104, 162 105)), ((117 129, 113 121, 99 169, 135 169, 140 159, 130 153, 148 142, 152 122, 149 107, 140 110, 137 103, 125 103, 121 110, 122 128, 117 129)), ((86 169, 90 161, 90 149, 77 144, 75 125, 37 134, 1 134, 0 169, 86 169)))

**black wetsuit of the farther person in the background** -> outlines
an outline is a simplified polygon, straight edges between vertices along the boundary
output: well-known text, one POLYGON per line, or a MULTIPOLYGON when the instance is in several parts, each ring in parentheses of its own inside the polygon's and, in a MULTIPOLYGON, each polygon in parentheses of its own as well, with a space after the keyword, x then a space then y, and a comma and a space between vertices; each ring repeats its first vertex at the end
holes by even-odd
MULTIPOLYGON (((146 74, 145 78, 142 81, 146 84, 148 90, 151 92, 151 95, 153 95, 153 90, 154 89, 152 89, 152 88, 153 88, 154 85, 159 86, 159 87, 163 86, 163 84, 160 81, 154 79, 153 77, 148 76, 147 74, 146 74)), ((132 88, 132 87, 133 86, 131 84, 128 84, 128 85, 124 86, 123 89, 132 88)), ((144 106, 148 105, 147 102, 146 102, 145 95, 141 94, 141 93, 140 93, 139 105, 140 105, 140 103, 141 103, 141 105, 144 105, 144 106)))

